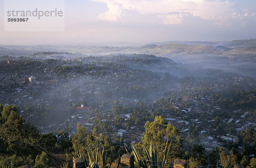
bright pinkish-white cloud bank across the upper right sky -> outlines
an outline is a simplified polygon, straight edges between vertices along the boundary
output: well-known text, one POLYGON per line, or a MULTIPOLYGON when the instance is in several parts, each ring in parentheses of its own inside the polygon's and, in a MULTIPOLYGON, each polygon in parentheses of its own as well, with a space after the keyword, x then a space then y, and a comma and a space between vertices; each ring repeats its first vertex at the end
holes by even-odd
MULTIPOLYGON (((184 17, 199 17, 212 25, 230 25, 237 19, 240 25, 256 20, 256 11, 238 8, 234 0, 93 0, 106 3, 108 11, 98 16, 110 22, 138 22, 158 24, 182 24, 184 17), (253 13, 255 12, 255 13, 253 13)), ((245 0, 246 1, 246 0, 245 0)))

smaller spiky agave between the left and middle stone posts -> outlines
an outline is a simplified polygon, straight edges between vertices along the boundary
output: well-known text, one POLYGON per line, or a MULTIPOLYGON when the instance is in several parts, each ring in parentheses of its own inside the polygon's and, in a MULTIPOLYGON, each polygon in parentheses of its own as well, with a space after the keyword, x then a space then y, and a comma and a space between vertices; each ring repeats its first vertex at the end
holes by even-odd
POLYGON ((111 168, 112 164, 112 148, 111 148, 111 159, 109 165, 107 165, 107 155, 105 151, 105 146, 103 146, 102 151, 97 149, 96 156, 94 154, 94 157, 92 157, 92 154, 90 153, 89 149, 87 148, 88 157, 89 157, 89 164, 87 164, 87 168, 111 168))

